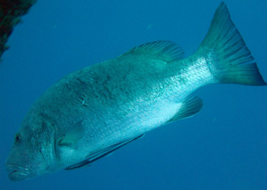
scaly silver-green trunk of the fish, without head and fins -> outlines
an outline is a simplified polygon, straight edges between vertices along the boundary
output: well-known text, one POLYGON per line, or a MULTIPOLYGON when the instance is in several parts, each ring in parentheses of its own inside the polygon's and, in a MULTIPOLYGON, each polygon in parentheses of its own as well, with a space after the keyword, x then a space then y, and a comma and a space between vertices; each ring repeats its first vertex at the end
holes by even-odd
POLYGON ((51 126, 55 128, 51 129, 55 130, 55 139, 84 118, 85 138, 75 151, 81 149, 84 154, 75 156, 68 149, 62 152, 62 161, 72 164, 90 150, 113 144, 117 139, 134 138, 172 118, 180 102, 203 85, 203 79, 209 79, 209 75, 202 74, 207 67, 205 62, 191 62, 192 66, 185 64, 187 60, 183 62, 167 63, 136 55, 105 61, 64 77, 32 108, 40 115, 47 115, 47 110, 54 113, 45 122, 55 124, 51 126))

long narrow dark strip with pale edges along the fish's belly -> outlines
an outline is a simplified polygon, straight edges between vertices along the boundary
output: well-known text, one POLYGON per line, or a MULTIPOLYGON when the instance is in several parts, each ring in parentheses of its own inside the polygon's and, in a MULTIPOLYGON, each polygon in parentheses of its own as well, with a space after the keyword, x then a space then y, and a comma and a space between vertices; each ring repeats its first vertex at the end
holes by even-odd
POLYGON ((124 146, 124 145, 126 145, 126 144, 128 144, 128 143, 130 143, 130 142, 132 142, 134 140, 137 140, 137 139, 141 138, 143 135, 140 135, 140 136, 138 136, 138 137, 136 137, 134 139, 130 139, 130 140, 127 140, 127 141, 115 143, 115 144, 108 145, 108 146, 102 147, 100 149, 97 149, 95 151, 92 151, 92 152, 89 153, 88 156, 86 156, 86 158, 87 158, 86 160, 81 161, 81 162, 79 162, 77 164, 74 164, 72 166, 69 166, 69 167, 65 168, 65 170, 73 170, 73 169, 89 166, 91 163, 99 160, 100 158, 103 158, 104 156, 110 155, 115 150, 121 148, 122 146, 124 146))

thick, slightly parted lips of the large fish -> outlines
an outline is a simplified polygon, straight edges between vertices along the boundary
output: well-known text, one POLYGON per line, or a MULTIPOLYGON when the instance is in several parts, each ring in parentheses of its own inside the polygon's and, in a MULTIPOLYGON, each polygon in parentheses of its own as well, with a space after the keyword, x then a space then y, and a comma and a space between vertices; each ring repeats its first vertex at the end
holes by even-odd
POLYGON ((8 177, 11 181, 20 181, 27 178, 30 178, 30 172, 23 167, 7 165, 7 170, 12 171, 8 174, 8 177))

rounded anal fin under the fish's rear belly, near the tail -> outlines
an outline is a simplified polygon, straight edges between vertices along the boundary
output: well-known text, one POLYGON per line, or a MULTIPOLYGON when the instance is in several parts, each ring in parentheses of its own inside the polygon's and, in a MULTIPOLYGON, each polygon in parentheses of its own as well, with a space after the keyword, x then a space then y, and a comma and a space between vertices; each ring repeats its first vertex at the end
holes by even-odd
POLYGON ((203 101, 199 97, 190 96, 184 102, 179 111, 165 124, 192 117, 193 115, 199 113, 203 106, 203 101))

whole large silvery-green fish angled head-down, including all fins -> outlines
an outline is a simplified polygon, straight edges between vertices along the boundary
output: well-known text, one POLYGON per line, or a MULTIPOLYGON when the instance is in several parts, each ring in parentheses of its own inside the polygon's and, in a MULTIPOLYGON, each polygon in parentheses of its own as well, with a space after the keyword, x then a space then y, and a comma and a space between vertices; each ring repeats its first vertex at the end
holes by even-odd
POLYGON ((35 101, 15 135, 10 180, 88 166, 191 117, 203 103, 190 93, 204 85, 267 85, 223 2, 197 51, 183 55, 175 43, 155 41, 63 77, 35 101))

